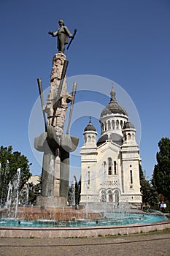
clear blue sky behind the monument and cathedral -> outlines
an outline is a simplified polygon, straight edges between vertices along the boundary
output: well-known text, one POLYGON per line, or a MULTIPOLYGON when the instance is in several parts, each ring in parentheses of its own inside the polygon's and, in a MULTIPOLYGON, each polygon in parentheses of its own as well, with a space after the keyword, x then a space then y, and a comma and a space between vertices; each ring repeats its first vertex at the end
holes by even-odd
MULTIPOLYGON (((130 106, 127 112, 139 136, 142 169, 151 178, 158 142, 170 138, 168 0, 1 0, 1 146, 12 145, 32 163, 33 175, 41 173, 32 145, 34 135, 44 130, 36 79, 42 78, 47 92, 57 53, 56 38, 47 32, 56 31, 60 19, 72 33, 77 29, 65 54, 69 90, 73 81, 78 83, 70 128, 70 134, 80 138, 78 148, 89 116, 100 137, 98 118, 114 86, 117 102, 126 110, 130 106), (40 118, 35 118, 36 111, 40 118)), ((78 150, 71 165, 70 179, 74 172, 80 175, 78 150)))

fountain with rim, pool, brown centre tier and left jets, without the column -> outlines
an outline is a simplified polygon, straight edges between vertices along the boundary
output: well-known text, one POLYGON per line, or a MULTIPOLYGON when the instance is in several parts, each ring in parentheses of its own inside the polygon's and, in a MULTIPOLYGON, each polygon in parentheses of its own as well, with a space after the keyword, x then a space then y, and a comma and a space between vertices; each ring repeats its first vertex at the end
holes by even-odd
MULTIPOLYGON (((73 206, 49 208, 42 206, 18 206, 18 185, 20 169, 15 181, 15 208, 10 207, 12 186, 9 184, 8 208, 0 211, 1 237, 77 237, 110 236, 128 233, 163 230, 170 227, 170 219, 160 211, 144 213, 131 211, 130 207, 102 203, 93 208, 88 203, 85 208, 73 206), (12 217, 14 216, 14 217, 12 217), (11 218, 12 217, 12 218, 11 218), (43 233, 42 233, 43 232, 43 233)), ((53 203, 53 202, 52 202, 53 203)))

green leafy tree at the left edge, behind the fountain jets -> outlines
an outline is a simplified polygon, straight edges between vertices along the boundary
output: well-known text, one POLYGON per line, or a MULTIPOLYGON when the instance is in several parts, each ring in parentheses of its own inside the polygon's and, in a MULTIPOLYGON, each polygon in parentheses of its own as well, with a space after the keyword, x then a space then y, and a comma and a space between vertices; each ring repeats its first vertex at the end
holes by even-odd
POLYGON ((17 170, 20 168, 19 191, 31 177, 28 159, 20 152, 12 152, 12 146, 0 148, 0 202, 3 206, 7 200, 9 182, 14 184, 17 170))

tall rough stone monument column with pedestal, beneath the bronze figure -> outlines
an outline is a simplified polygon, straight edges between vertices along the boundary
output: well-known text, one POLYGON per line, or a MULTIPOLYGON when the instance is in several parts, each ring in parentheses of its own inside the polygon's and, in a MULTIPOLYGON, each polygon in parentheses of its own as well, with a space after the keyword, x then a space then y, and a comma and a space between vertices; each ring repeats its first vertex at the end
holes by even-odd
POLYGON ((45 207, 66 206, 69 191, 69 153, 77 148, 79 138, 63 134, 67 104, 72 95, 67 92, 63 67, 66 56, 57 53, 53 57, 50 77, 50 93, 43 107, 47 113, 47 130, 34 139, 34 148, 44 152, 42 163, 42 196, 36 204, 45 207), (61 81, 61 75, 63 80, 61 81))

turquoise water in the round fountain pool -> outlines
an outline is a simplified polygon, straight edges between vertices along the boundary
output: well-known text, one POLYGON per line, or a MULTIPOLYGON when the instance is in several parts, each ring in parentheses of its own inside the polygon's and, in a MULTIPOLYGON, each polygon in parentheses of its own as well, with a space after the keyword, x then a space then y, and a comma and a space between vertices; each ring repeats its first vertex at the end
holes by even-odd
POLYGON ((57 221, 57 220, 24 220, 1 218, 0 226, 8 227, 93 227, 93 226, 115 226, 115 225, 131 225, 141 223, 161 222, 167 217, 163 214, 122 214, 108 213, 101 219, 73 219, 72 221, 57 221))

